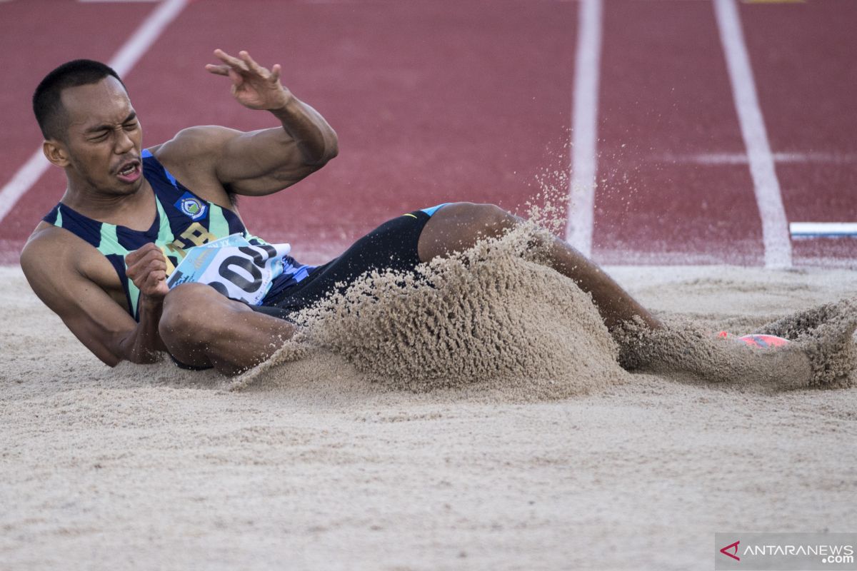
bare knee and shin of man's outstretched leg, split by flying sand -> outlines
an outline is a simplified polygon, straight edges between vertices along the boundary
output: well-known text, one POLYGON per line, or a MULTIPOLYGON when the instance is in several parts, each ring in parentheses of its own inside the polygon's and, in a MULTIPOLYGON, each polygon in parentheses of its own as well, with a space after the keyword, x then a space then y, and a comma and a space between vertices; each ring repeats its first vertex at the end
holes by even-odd
MULTIPOLYGON (((484 236, 497 236, 522 222, 495 205, 457 202, 434 212, 423 229, 418 253, 423 262, 435 256, 445 256, 471 247, 484 236)), ((598 265, 587 259, 565 241, 554 238, 548 247, 548 265, 572 278, 578 286, 592 294, 598 312, 608 329, 639 316, 645 324, 658 328, 661 324, 630 294, 620 287, 598 265)))

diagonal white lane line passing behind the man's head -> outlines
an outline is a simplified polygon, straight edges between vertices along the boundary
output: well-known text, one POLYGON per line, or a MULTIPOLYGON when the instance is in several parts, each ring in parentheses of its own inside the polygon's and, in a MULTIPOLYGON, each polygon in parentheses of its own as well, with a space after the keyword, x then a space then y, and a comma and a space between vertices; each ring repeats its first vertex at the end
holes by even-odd
MULTIPOLYGON (((112 57, 108 65, 120 76, 128 74, 134 64, 151 47, 159 35, 171 21, 182 11, 188 0, 164 0, 158 8, 148 15, 119 51, 112 57)), ((0 189, 0 222, 9 214, 18 199, 21 199, 33 185, 39 181, 45 170, 51 164, 39 148, 15 175, 0 189)))

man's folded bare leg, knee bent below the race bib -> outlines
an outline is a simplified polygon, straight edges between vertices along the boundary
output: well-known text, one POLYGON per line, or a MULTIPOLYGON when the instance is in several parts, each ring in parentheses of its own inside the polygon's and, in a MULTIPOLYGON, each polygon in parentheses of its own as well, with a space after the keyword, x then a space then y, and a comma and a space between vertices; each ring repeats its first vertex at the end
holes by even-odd
POLYGON ((173 357, 189 366, 214 366, 227 375, 266 360, 294 332, 288 321, 254 312, 200 283, 172 289, 159 324, 173 357))

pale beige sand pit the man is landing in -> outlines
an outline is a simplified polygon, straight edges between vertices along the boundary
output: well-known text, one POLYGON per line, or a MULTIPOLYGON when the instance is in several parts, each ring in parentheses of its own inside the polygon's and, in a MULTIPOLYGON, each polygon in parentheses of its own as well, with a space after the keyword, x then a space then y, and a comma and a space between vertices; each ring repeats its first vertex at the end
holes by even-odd
POLYGON ((643 372, 542 273, 504 291, 563 293, 551 312, 468 310, 539 359, 483 339, 476 361, 397 360, 420 339, 373 328, 427 298, 375 321, 364 306, 339 329, 360 343, 321 331, 231 390, 168 362, 100 365, 0 268, 0 568, 711 568, 716 531, 853 531, 853 307, 834 302, 857 272, 608 270, 676 328, 635 353, 643 372), (800 354, 759 366, 707 337, 765 326, 800 354))

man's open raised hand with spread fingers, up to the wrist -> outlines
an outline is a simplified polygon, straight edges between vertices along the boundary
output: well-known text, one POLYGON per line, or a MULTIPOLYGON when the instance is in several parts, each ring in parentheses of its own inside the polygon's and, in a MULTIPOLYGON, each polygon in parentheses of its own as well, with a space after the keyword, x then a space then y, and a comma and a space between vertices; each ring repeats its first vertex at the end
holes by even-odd
POLYGON ((223 50, 215 50, 214 56, 222 64, 209 63, 206 69, 215 75, 225 75, 232 80, 232 95, 244 107, 255 110, 274 110, 285 107, 291 92, 279 82, 282 71, 275 63, 269 71, 254 61, 246 51, 232 57, 223 50))

